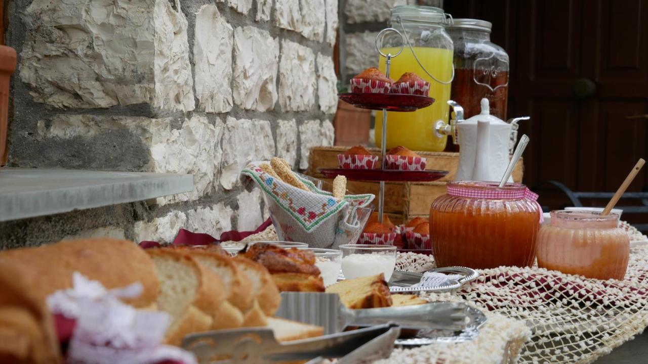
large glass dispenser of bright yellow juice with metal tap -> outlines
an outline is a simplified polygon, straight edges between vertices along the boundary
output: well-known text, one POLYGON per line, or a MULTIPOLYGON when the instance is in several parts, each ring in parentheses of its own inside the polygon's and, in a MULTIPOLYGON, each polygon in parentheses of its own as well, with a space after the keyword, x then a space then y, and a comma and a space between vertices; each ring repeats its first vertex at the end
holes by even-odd
MULTIPOLYGON (((441 152, 447 137, 439 133, 448 123, 450 84, 454 77, 452 67, 452 39, 445 31, 452 17, 432 6, 396 6, 391 10, 390 26, 405 38, 402 53, 391 60, 391 78, 397 80, 403 73, 412 72, 430 82, 430 97, 434 104, 411 113, 388 111, 387 148, 405 146, 411 150, 441 152), (441 125, 443 124, 443 125, 441 125)), ((402 39, 383 42, 383 53, 396 54, 402 39)), ((380 69, 385 72, 386 58, 380 57, 380 69)), ((382 113, 376 114, 376 130, 382 130, 382 113)), ((382 135, 376 133, 376 144, 382 147, 382 135)))

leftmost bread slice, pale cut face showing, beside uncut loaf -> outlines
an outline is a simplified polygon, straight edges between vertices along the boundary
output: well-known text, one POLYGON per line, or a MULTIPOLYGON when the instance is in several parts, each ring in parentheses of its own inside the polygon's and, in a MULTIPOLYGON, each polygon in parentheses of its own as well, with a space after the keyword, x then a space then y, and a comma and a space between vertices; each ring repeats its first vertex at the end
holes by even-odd
POLYGON ((172 317, 165 341, 179 345, 191 332, 209 330, 216 309, 225 301, 218 277, 209 277, 209 271, 189 255, 173 249, 147 249, 160 282, 157 308, 172 317))

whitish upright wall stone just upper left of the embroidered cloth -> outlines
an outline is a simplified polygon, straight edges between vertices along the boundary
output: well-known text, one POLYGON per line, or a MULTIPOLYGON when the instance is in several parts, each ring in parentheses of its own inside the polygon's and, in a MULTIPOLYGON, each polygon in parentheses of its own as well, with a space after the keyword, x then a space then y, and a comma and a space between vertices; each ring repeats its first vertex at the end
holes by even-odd
POLYGON ((222 141, 222 174, 220 185, 231 190, 240 185, 240 171, 253 161, 255 148, 250 145, 254 140, 251 121, 227 117, 222 141))

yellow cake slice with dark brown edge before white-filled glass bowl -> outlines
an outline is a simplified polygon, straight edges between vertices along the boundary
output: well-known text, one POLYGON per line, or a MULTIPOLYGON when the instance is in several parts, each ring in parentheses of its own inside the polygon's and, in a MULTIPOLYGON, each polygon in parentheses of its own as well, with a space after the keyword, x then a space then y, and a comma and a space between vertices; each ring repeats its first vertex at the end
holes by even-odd
POLYGON ((332 284, 327 293, 338 293, 348 308, 378 308, 391 306, 391 293, 382 273, 379 275, 345 279, 332 284))

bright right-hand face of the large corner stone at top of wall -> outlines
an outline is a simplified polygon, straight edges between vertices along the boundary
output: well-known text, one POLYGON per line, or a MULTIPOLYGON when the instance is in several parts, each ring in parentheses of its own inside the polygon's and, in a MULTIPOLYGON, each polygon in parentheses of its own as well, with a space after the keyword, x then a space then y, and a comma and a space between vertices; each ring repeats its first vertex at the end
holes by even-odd
POLYGON ((187 18, 176 0, 176 9, 166 0, 156 0, 153 19, 156 27, 155 80, 153 105, 174 111, 194 109, 193 78, 189 63, 187 18))

